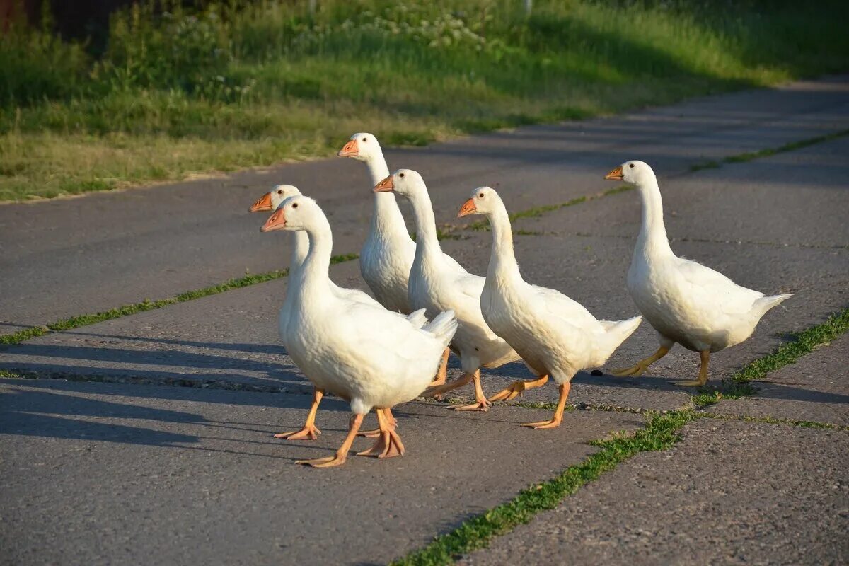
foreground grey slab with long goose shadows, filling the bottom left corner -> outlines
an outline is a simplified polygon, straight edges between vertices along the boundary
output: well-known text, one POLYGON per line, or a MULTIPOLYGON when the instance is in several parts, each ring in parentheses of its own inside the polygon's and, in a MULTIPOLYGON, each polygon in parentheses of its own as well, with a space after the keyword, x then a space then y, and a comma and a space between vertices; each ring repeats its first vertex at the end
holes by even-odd
POLYGON ((0 380, 0 563, 386 563, 580 462, 596 450, 588 440, 644 423, 576 411, 559 429, 532 431, 518 423, 548 412, 411 403, 396 411, 405 457, 351 455, 322 470, 294 461, 335 451, 346 403, 323 401, 320 440, 271 437, 300 426, 308 403, 0 380))

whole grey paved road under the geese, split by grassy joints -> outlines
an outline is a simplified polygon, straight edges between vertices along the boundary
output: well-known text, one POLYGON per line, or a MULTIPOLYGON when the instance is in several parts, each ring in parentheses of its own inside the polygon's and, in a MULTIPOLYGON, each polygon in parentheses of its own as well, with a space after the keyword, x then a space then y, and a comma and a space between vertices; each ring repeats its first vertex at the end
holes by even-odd
MULTIPOLYGON (((521 210, 615 187, 601 179, 606 171, 625 159, 649 161, 661 173, 678 254, 754 289, 796 294, 750 340, 711 357, 717 384, 788 332, 849 305, 849 137, 716 169, 689 166, 846 129, 844 77, 387 157, 391 167, 423 171, 446 222, 481 184, 521 210)), ((274 182, 317 196, 337 253, 357 251, 368 181, 350 160, 0 206, 0 321, 9 329, 41 324, 221 283, 245 268, 285 266, 288 238, 261 236, 261 218, 245 212, 274 182)), ((638 221, 633 192, 548 210, 514 223, 526 234, 515 238, 516 256, 532 283, 564 291, 599 317, 629 317, 624 278, 638 221)), ((454 234, 443 248, 484 272, 490 233, 454 234)), ((363 287, 356 262, 331 274, 363 287)), ((405 457, 303 468, 293 462, 340 444, 347 408, 323 402, 316 442, 272 438, 298 426, 309 402, 277 342, 284 292, 280 279, 0 350, 0 371, 40 377, 0 379, 0 563, 386 563, 582 462, 596 450, 590 440, 638 429, 638 412, 689 406, 691 392, 668 382, 698 368, 698 356, 676 348, 642 378, 579 373, 570 401, 591 410, 566 412, 550 431, 520 428, 548 410, 516 403, 475 414, 409 403, 396 411, 405 457)), ((558 508, 457 558, 846 563, 847 336, 769 373, 756 395, 709 407, 671 450, 622 462, 558 508), (843 429, 734 420, 752 418, 843 429)), ((655 347, 644 324, 609 367, 655 347)), ((509 364, 486 371, 483 386, 493 392, 517 377, 526 369, 509 364)), ((516 401, 555 399, 546 386, 516 401)))

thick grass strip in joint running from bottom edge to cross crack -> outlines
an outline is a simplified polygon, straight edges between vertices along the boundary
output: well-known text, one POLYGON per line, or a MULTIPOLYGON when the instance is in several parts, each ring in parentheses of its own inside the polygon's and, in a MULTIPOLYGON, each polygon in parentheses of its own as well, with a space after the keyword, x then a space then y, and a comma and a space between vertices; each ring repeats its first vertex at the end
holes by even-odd
POLYGON ((531 485, 512 500, 464 521, 457 529, 436 537, 423 549, 393 562, 394 566, 436 566, 453 563, 458 555, 484 548, 493 537, 528 523, 537 513, 554 509, 582 485, 598 479, 620 462, 644 451, 662 451, 674 445, 678 429, 694 420, 692 411, 667 412, 649 417, 645 429, 632 435, 617 434, 610 440, 593 442, 599 451, 583 462, 566 468, 556 478, 531 485))

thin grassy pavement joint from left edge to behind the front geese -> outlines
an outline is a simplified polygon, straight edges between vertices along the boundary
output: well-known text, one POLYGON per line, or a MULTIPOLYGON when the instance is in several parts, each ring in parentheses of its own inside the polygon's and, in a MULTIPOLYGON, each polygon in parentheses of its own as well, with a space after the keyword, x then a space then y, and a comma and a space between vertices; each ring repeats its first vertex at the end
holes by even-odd
MULTIPOLYGON (((358 257, 359 255, 357 254, 334 255, 332 258, 330 258, 330 265, 356 260, 358 257)), ((49 324, 43 326, 25 328, 15 333, 0 334, 0 348, 2 348, 3 346, 20 344, 25 340, 38 338, 39 336, 43 336, 44 334, 48 334, 51 332, 73 330, 74 328, 80 328, 83 326, 88 326, 89 324, 96 324, 98 322, 104 322, 115 318, 127 317, 129 315, 134 315, 139 312, 155 311, 156 309, 160 309, 164 306, 177 305, 177 303, 184 303, 187 300, 201 299, 203 297, 208 297, 213 294, 224 293, 233 289, 250 287, 250 285, 256 285, 257 283, 266 283, 267 281, 280 279, 282 277, 286 277, 287 275, 289 275, 288 269, 274 270, 273 272, 265 273, 246 274, 243 277, 230 279, 225 283, 210 285, 209 287, 204 287, 203 289, 194 289, 191 291, 186 291, 184 293, 168 297, 167 299, 145 299, 140 303, 131 303, 129 305, 117 306, 113 309, 110 309, 109 311, 100 311, 89 314, 76 315, 75 317, 63 318, 61 320, 58 320, 56 322, 50 322, 49 324)))

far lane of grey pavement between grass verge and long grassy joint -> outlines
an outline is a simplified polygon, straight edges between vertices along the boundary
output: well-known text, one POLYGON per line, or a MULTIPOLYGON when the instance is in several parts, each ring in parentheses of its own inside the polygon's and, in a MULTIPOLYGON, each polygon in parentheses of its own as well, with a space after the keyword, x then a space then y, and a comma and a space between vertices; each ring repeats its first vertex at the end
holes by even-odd
MULTIPOLYGON (((424 174, 437 219, 449 222, 457 200, 482 184, 501 188, 509 207, 520 210, 610 188, 599 171, 635 151, 670 175, 701 160, 846 128, 849 77, 841 76, 392 150, 387 158, 391 168, 424 174)), ((363 165, 338 158, 4 205, 0 322, 39 325, 278 268, 275 244, 258 233, 262 219, 245 212, 277 182, 319 199, 335 228, 337 253, 359 249, 371 211, 367 177, 363 165)))

